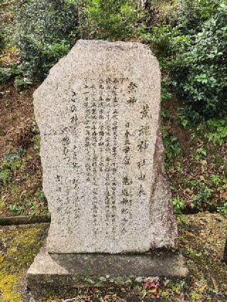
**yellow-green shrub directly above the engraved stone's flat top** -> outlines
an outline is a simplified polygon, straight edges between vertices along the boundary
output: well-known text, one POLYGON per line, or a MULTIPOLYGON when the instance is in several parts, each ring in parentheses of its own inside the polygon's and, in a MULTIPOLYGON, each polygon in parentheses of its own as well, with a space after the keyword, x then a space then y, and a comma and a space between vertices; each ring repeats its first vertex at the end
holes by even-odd
POLYGON ((138 21, 142 13, 135 0, 88 0, 82 14, 80 30, 83 38, 129 40, 140 30, 138 21))

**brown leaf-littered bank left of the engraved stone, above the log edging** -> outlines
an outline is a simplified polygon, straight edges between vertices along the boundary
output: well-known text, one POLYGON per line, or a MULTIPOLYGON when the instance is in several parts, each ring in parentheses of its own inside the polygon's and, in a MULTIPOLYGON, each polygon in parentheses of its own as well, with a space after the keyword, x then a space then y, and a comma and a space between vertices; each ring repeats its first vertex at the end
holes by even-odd
POLYGON ((48 213, 33 89, 0 85, 0 217, 48 213))

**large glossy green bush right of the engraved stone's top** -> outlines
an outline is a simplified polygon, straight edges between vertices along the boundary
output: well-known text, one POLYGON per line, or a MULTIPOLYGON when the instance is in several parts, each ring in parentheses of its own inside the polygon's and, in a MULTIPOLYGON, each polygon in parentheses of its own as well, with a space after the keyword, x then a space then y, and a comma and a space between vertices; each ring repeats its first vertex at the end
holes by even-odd
POLYGON ((178 24, 147 34, 191 121, 227 113, 227 2, 181 0, 178 24))

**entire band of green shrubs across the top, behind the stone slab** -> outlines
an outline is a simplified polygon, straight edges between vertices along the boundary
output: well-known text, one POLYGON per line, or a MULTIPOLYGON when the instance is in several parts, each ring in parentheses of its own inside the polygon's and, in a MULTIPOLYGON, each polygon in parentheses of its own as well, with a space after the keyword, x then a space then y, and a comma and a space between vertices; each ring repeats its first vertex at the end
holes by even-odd
MULTIPOLYGON (((168 1, 148 0, 143 13, 137 3, 19 1, 15 28, 23 78, 45 79, 50 67, 67 54, 79 37, 142 38, 159 58, 162 71, 175 82, 172 90, 182 101, 182 116, 191 121, 225 116, 226 1, 178 0, 171 6, 168 1), (160 7, 166 4, 168 10, 163 12, 160 7)), ((21 79, 16 79, 18 89, 26 87, 21 79)))

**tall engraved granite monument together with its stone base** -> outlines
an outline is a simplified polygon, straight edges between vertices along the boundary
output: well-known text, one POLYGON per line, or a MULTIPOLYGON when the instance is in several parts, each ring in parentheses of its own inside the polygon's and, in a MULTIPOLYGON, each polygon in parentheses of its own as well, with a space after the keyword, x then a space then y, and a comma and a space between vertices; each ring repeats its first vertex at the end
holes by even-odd
POLYGON ((79 40, 35 91, 34 107, 52 216, 28 287, 77 286, 87 271, 95 284, 106 275, 185 276, 180 255, 160 252, 175 247, 177 224, 150 49, 79 40))

